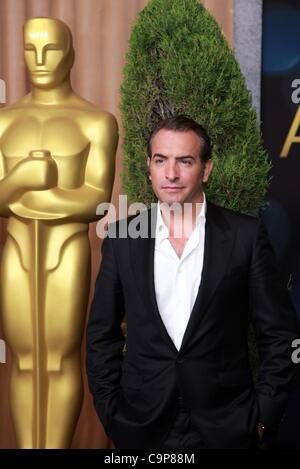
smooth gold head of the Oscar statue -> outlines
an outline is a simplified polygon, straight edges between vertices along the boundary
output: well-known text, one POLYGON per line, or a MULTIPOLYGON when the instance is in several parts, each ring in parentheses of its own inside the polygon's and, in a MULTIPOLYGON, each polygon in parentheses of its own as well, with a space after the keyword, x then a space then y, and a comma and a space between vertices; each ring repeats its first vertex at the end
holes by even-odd
POLYGON ((53 88, 69 77, 74 62, 72 34, 54 18, 31 18, 24 25, 24 55, 31 82, 53 88))

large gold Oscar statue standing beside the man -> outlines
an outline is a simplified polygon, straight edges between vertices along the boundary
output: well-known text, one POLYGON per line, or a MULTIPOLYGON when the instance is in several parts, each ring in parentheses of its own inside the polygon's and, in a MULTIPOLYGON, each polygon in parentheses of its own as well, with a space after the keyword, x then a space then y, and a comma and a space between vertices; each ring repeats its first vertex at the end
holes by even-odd
POLYGON ((32 91, 0 111, 1 310, 13 356, 19 448, 67 448, 81 410, 80 347, 90 287, 88 223, 108 202, 118 129, 71 88, 72 35, 24 26, 32 91))

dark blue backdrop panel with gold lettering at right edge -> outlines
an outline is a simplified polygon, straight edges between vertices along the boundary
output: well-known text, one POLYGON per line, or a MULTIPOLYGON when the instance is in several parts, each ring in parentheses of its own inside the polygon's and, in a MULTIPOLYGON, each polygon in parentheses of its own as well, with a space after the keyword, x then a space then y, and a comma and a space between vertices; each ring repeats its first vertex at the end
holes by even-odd
MULTIPOLYGON (((299 0, 264 0, 261 91, 263 138, 273 163, 264 218, 300 319, 300 142, 281 157, 300 105, 299 0)), ((300 135, 300 123, 294 135, 300 135)), ((300 449, 300 364, 279 447, 300 449)))

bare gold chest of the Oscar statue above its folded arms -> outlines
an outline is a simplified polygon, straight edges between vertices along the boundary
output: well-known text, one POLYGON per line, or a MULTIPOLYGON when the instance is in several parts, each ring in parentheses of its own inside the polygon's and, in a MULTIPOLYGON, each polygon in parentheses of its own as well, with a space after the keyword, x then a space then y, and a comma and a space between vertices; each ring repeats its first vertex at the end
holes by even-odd
POLYGON ((8 173, 30 151, 50 150, 58 168, 58 187, 75 189, 83 183, 90 142, 85 134, 89 116, 72 109, 11 111, 1 136, 4 172, 8 173), (26 112, 25 112, 26 111, 26 112))

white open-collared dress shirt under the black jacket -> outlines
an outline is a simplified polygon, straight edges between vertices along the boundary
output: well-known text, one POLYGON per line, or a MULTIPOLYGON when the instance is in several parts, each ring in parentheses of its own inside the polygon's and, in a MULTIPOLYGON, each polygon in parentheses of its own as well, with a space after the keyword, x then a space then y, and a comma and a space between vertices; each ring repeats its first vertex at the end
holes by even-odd
POLYGON ((179 258, 168 236, 169 230, 157 204, 157 221, 154 252, 154 285, 157 306, 167 332, 177 350, 190 319, 201 282, 206 198, 197 216, 196 227, 179 258))

